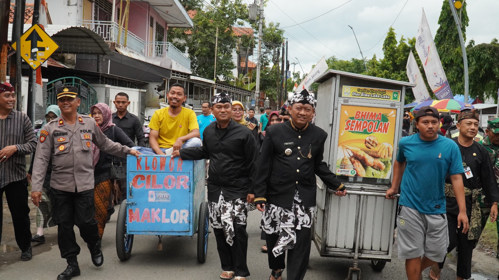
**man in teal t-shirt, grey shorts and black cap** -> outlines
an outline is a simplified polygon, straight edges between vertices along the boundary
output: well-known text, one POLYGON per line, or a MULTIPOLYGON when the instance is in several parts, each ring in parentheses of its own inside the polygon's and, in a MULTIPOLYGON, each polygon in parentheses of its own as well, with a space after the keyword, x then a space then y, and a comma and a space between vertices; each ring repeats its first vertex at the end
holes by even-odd
POLYGON ((392 186, 386 191, 386 198, 395 199, 393 195, 401 187, 397 247, 399 259, 406 260, 408 280, 420 280, 423 270, 442 262, 447 254, 446 174, 459 208, 455 225, 468 232, 463 161, 456 142, 437 134, 438 117, 434 107, 424 106, 418 111, 419 133, 400 140, 392 186))

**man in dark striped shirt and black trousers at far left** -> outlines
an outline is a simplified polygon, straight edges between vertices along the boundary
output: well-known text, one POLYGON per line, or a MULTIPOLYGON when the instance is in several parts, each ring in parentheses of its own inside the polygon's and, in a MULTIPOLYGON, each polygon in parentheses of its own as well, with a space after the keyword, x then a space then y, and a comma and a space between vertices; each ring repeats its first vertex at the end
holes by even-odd
MULTIPOLYGON (((5 193, 12 216, 14 236, 21 260, 31 260, 29 207, 26 200, 26 154, 34 151, 36 136, 26 114, 16 111, 14 87, 0 83, 0 202, 5 193)), ((0 241, 2 231, 0 211, 0 241)))

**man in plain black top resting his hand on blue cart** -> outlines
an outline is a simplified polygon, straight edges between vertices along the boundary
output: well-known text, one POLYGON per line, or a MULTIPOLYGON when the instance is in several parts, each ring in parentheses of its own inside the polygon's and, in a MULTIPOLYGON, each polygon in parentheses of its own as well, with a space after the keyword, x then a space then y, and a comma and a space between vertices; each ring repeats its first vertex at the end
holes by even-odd
POLYGON ((251 131, 232 120, 229 94, 214 95, 212 111, 217 121, 203 132, 203 145, 176 150, 172 156, 210 159, 209 213, 222 264, 220 278, 246 280, 250 276, 246 262, 246 219, 254 198, 258 148, 251 131))

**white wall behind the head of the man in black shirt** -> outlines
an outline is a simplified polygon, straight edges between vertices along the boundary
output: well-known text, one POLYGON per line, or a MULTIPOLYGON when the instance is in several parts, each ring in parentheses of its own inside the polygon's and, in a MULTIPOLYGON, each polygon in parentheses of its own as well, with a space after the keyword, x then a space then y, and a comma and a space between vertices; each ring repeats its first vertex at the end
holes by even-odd
POLYGON ((116 87, 116 86, 110 86, 110 85, 97 85, 97 84, 92 84, 91 85, 95 91, 97 92, 97 102, 101 103, 106 103, 106 88, 109 89, 109 102, 107 105, 109 105, 109 108, 111 108, 111 111, 114 113, 116 112, 116 107, 114 106, 113 100, 114 97, 116 96, 117 93, 119 92, 124 92, 128 94, 128 100, 130 101, 130 105, 128 106, 128 112, 136 115, 140 119, 140 95, 146 90, 142 89, 131 89, 131 88, 123 88, 123 87, 116 87))

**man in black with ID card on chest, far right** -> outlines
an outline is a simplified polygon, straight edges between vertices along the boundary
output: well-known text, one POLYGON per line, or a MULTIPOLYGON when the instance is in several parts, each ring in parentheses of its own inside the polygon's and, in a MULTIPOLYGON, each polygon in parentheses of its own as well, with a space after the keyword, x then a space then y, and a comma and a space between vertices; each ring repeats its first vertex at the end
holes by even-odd
MULTIPOLYGON (((466 104, 461 113, 458 114, 458 124, 456 126, 459 130, 459 136, 452 139, 458 144, 465 170, 463 173, 463 183, 466 196, 466 214, 470 224, 470 230, 467 234, 457 228, 459 208, 449 176, 446 178, 445 184, 449 229, 449 247, 447 248, 447 252, 451 252, 456 247, 458 248, 459 254, 456 270, 458 280, 471 278, 473 249, 482 233, 482 215, 480 213, 479 201, 480 187, 482 187, 483 193, 489 200, 499 200, 499 188, 487 149, 474 140, 478 133, 479 121, 479 114, 471 108, 470 104, 466 104)), ((491 222, 497 219, 497 215, 497 204, 494 204, 491 208, 491 222)), ((432 266, 430 279, 440 279, 440 271, 444 267, 444 262, 432 266)))

